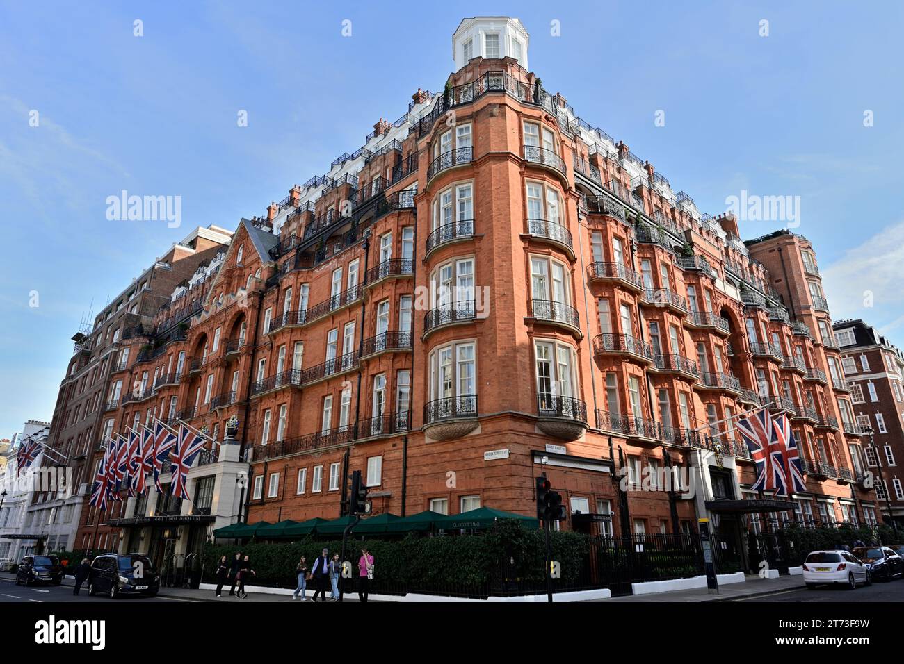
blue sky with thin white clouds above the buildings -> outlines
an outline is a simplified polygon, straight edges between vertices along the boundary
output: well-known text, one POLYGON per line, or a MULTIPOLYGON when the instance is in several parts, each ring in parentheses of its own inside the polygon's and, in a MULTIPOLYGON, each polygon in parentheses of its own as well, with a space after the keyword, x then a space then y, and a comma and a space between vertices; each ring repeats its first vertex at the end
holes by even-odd
POLYGON ((415 89, 442 89, 451 33, 481 14, 519 17, 544 87, 703 211, 741 190, 800 196, 833 315, 904 342, 896 3, 0 2, 0 436, 50 419, 92 299, 97 313, 190 229, 263 213, 415 89), (108 221, 123 189, 181 196, 182 227, 108 221))

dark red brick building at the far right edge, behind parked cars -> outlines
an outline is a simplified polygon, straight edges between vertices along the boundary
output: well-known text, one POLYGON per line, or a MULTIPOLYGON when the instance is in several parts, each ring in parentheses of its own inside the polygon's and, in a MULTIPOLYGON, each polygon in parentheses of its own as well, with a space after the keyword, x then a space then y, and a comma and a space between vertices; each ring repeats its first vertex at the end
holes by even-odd
POLYGON ((865 469, 886 519, 904 519, 904 356, 876 328, 862 320, 834 324, 844 379, 851 389, 853 416, 867 431, 865 469))

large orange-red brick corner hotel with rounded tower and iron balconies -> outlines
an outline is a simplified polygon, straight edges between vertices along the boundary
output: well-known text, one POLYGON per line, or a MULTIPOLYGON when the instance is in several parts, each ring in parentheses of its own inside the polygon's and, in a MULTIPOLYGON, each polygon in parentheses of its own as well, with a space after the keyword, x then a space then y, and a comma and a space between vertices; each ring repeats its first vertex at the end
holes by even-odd
POLYGON ((803 259, 772 258, 805 238, 742 242, 733 217, 702 214, 548 93, 527 47, 516 19, 463 21, 442 93, 418 89, 328 173, 241 220, 197 298, 133 338, 126 375, 148 379, 117 430, 157 415, 219 441, 237 416, 250 481, 236 510, 212 508, 227 487, 200 474, 191 506, 129 501, 114 522, 134 527, 128 546, 193 550, 202 529, 175 515, 338 517, 353 470, 377 513, 531 514, 547 472, 563 528, 710 516, 741 550, 749 528, 871 518, 824 296, 801 290, 803 259), (723 420, 761 404, 792 418, 807 491, 747 516, 741 501, 763 497, 723 420), (692 491, 664 491, 670 467, 692 491))

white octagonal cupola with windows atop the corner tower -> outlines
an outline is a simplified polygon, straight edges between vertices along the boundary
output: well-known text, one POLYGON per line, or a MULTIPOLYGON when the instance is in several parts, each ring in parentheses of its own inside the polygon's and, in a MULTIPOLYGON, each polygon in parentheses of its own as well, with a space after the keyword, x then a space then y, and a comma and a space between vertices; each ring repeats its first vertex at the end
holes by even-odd
POLYGON ((514 58, 525 70, 530 36, 516 18, 475 16, 459 23, 452 35, 452 59, 460 70, 472 58, 514 58))

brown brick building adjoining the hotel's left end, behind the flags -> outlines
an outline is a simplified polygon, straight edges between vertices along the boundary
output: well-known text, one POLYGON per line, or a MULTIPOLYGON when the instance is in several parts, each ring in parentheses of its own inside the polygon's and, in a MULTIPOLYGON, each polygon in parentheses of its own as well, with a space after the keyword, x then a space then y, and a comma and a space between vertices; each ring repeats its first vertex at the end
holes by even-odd
MULTIPOLYGON (((49 542, 52 547, 115 548, 111 538, 118 531, 97 528, 95 510, 88 506, 99 463, 95 454, 104 449, 113 431, 122 431, 120 407, 140 392, 142 381, 147 383, 142 371, 131 369, 141 354, 147 322, 170 305, 180 284, 196 278, 199 270, 209 269, 230 237, 231 231, 215 226, 194 229, 114 297, 92 325, 72 337, 75 351, 61 382, 48 440, 58 454, 43 456, 45 465, 59 463, 61 458, 69 460, 71 489, 65 494, 36 492, 29 507, 54 519, 67 519, 60 525, 68 527, 54 528, 61 529, 61 534, 49 542)), ((105 516, 117 518, 125 508, 124 501, 117 502, 105 516)))

